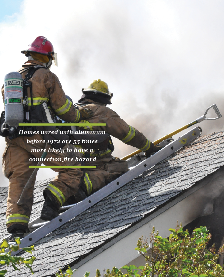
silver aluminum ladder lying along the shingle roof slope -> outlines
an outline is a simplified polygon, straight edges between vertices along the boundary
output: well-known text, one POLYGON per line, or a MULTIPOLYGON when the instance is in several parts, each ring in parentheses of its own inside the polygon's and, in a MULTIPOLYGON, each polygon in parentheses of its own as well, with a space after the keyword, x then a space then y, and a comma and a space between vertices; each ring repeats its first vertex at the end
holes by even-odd
MULTIPOLYGON (((166 145, 163 149, 159 150, 154 155, 150 156, 148 159, 141 161, 135 167, 132 167, 128 172, 124 173, 116 180, 110 182, 105 187, 101 188, 99 191, 96 191, 92 195, 88 196, 83 201, 77 204, 61 207, 61 211, 65 209, 67 210, 61 213, 56 218, 52 219, 51 221, 37 223, 36 228, 39 226, 40 227, 34 230, 32 233, 28 233, 26 237, 21 239, 20 248, 29 247, 41 238, 47 236, 49 233, 53 232, 58 227, 62 226, 74 217, 78 216, 80 213, 86 211, 96 203, 100 202, 103 198, 107 197, 114 191, 117 191, 119 188, 121 188, 128 182, 132 181, 134 178, 138 177, 146 170, 155 166, 157 163, 164 160, 165 158, 173 154, 175 151, 179 150, 187 143, 191 142, 192 140, 200 136, 201 133, 202 130, 200 127, 195 127, 191 129, 186 134, 182 135, 180 138, 166 145)), ((35 225, 35 220, 32 221, 29 225, 31 224, 35 225)), ((13 252, 12 254, 15 255, 17 253, 19 253, 19 251, 13 252)))

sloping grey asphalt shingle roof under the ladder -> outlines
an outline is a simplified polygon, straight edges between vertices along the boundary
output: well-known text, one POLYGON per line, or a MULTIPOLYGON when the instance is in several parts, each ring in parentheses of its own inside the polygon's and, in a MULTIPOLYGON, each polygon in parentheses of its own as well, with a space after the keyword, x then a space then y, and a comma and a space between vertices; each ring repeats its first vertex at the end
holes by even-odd
MULTIPOLYGON (((40 239, 33 252, 37 257, 32 266, 34 276, 53 276, 59 267, 76 264, 223 165, 224 131, 197 138, 40 239)), ((33 217, 40 215, 42 191, 49 180, 35 185, 33 217)), ((7 188, 1 188, 2 237, 6 235, 6 194, 7 188)), ((28 269, 18 273, 7 269, 5 276, 30 276, 28 269)))

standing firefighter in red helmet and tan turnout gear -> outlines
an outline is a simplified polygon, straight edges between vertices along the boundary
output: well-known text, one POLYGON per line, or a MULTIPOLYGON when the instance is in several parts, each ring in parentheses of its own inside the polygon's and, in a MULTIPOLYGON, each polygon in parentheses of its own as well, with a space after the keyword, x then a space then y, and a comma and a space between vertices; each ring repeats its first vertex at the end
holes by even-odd
MULTIPOLYGON (((32 95, 31 89, 27 91, 28 109, 32 120, 43 122, 38 117, 41 117, 40 107, 44 103, 47 104, 45 106, 48 106, 51 120, 58 116, 64 121, 78 123, 80 120, 92 116, 91 110, 74 108, 72 102, 66 98, 58 77, 49 70, 52 62, 57 66, 57 54, 54 53, 53 45, 46 37, 37 37, 22 53, 25 54, 28 61, 18 72, 22 74, 23 79, 32 75, 28 80, 32 84, 32 95), (30 72, 31 69, 33 70, 32 74, 27 77, 27 72, 30 72)), ((2 96, 4 100, 4 86, 2 87, 2 96)), ((31 138, 23 135, 22 130, 20 133, 16 137, 5 137, 6 147, 3 153, 3 173, 9 179, 6 224, 12 238, 22 238, 23 234, 29 231, 28 223, 33 205, 35 178, 26 195, 26 202, 23 205, 17 205, 17 201, 33 172, 33 169, 29 167, 37 165, 37 159, 41 157, 41 151, 46 147, 41 131, 36 131, 31 138), (31 139, 35 143, 28 143, 31 139)), ((51 135, 49 136, 50 140, 51 135)), ((51 145, 47 146, 51 147, 51 145)), ((75 159, 71 160, 70 153, 72 152, 74 152, 73 145, 62 144, 60 152, 48 152, 46 161, 43 163, 46 166, 80 166, 81 163, 75 162, 75 159), (72 150, 67 152, 66 149, 72 150)), ((58 172, 58 176, 44 189, 45 202, 41 211, 41 218, 44 220, 51 220, 58 216, 59 207, 78 191, 83 175, 80 169, 53 170, 58 172)))

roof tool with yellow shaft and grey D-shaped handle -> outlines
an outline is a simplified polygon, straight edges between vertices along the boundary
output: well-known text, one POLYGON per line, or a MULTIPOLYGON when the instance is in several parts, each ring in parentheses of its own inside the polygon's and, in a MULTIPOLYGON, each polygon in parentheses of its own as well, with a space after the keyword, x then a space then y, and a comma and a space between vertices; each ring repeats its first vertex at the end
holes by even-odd
MULTIPOLYGON (((201 121, 203 121, 203 120, 205 120, 205 119, 207 119, 207 120, 215 120, 215 119, 219 119, 220 117, 222 117, 222 114, 220 114, 219 109, 217 108, 216 104, 213 104, 212 106, 210 106, 210 107, 205 111, 205 114, 204 114, 204 115, 202 115, 201 117, 198 117, 195 121, 192 121, 191 123, 189 123, 189 124, 187 124, 187 125, 181 127, 180 129, 177 129, 176 131, 173 131, 172 133, 170 133, 170 134, 168 134, 168 135, 165 135, 165 136, 162 137, 162 138, 157 139, 156 141, 153 142, 153 144, 154 144, 154 145, 159 144, 159 143, 162 142, 163 140, 165 140, 165 139, 167 139, 167 138, 171 138, 173 135, 176 135, 176 134, 180 133, 181 131, 183 131, 183 130, 185 130, 185 129, 191 127, 192 125, 197 124, 197 123, 199 123, 199 122, 201 122, 201 121), (211 108, 214 109, 214 111, 215 111, 217 117, 215 117, 215 118, 208 118, 208 117, 206 117, 206 114, 207 114, 208 110, 210 110, 211 108)), ((128 160, 129 158, 131 158, 131 157, 133 157, 133 156, 135 156, 135 155, 137 155, 138 153, 141 153, 141 152, 142 152, 142 150, 136 150, 135 152, 133 152, 133 153, 131 153, 131 154, 129 154, 129 155, 123 157, 121 160, 128 160)))

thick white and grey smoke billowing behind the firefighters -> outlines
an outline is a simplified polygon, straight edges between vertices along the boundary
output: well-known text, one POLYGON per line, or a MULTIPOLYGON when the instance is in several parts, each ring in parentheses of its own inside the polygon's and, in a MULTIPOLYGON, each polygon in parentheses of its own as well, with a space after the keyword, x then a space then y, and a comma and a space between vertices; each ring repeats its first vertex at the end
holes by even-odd
MULTIPOLYGON (((0 23, 2 83, 6 73, 26 61, 20 51, 43 35, 58 53, 59 67, 51 69, 74 102, 83 87, 100 78, 114 93, 110 108, 152 141, 214 103, 223 117, 199 125, 203 134, 221 131, 223 5, 208 0, 40 0, 37 5, 25 0, 17 14, 0 23)), ((135 151, 113 142, 114 156, 135 151)), ((49 172, 40 170, 41 179, 49 172)))

